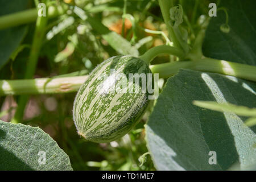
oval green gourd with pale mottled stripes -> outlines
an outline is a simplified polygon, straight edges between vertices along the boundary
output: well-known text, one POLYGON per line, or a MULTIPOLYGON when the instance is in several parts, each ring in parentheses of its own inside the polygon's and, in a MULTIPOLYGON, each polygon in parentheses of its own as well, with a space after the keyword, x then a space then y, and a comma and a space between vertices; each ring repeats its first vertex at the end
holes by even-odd
MULTIPOLYGON (((148 92, 118 92, 122 88, 123 73, 129 80, 129 73, 151 73, 148 64, 133 56, 114 56, 98 65, 77 92, 73 105, 73 120, 79 135, 86 140, 105 143, 127 134, 142 117, 149 104, 148 92), (110 74, 112 69, 112 74, 110 74), (113 69, 115 73, 113 74, 113 69), (108 75, 107 79, 102 77, 108 75), (114 87, 114 88, 115 88, 114 87)), ((135 88, 135 81, 130 82, 135 88)), ((138 85, 138 84, 137 84, 138 85)), ((141 83, 140 83, 141 85, 141 83)))

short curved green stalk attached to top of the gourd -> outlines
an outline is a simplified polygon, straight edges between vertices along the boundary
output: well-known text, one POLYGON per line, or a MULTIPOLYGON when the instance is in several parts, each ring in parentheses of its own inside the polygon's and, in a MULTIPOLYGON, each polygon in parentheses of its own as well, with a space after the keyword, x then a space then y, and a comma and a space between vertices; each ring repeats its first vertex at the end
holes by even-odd
POLYGON ((142 59, 149 64, 156 56, 164 54, 184 57, 184 52, 179 48, 163 45, 149 49, 142 56, 139 56, 139 59, 142 59))

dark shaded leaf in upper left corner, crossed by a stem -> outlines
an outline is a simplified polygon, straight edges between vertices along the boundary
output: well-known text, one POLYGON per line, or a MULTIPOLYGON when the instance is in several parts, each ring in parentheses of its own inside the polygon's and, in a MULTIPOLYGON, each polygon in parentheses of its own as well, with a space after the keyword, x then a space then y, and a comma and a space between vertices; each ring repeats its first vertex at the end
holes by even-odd
MULTIPOLYGON (((0 16, 27 9, 28 2, 28 0, 0 1, 0 16)), ((0 30, 0 69, 9 60, 11 53, 18 48, 26 31, 26 26, 0 30)))

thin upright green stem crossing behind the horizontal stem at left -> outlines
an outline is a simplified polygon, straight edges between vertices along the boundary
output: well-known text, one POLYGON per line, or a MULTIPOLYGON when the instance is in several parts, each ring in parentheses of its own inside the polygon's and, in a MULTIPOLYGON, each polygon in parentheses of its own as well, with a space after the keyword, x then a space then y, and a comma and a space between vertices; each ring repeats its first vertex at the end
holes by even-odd
MULTIPOLYGON (((47 24, 47 16, 38 16, 36 20, 36 28, 34 32, 34 38, 31 46, 31 51, 30 51, 30 56, 27 61, 27 68, 25 72, 25 79, 32 78, 35 69, 36 69, 36 64, 38 63, 38 56, 39 56, 39 51, 42 46, 43 38, 44 38, 44 28, 46 27, 47 24)), ((12 123, 19 123, 20 120, 22 120, 23 117, 23 112, 25 109, 25 106, 28 101, 28 95, 26 96, 20 96, 18 100, 18 108, 16 109, 14 118, 11 119, 12 123)))

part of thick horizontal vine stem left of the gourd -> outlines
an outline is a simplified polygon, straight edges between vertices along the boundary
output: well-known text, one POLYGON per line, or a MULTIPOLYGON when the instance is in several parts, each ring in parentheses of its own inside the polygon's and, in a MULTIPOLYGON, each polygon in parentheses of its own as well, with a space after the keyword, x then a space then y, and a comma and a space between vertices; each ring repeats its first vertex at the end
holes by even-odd
POLYGON ((0 80, 0 96, 76 92, 88 76, 0 80))

